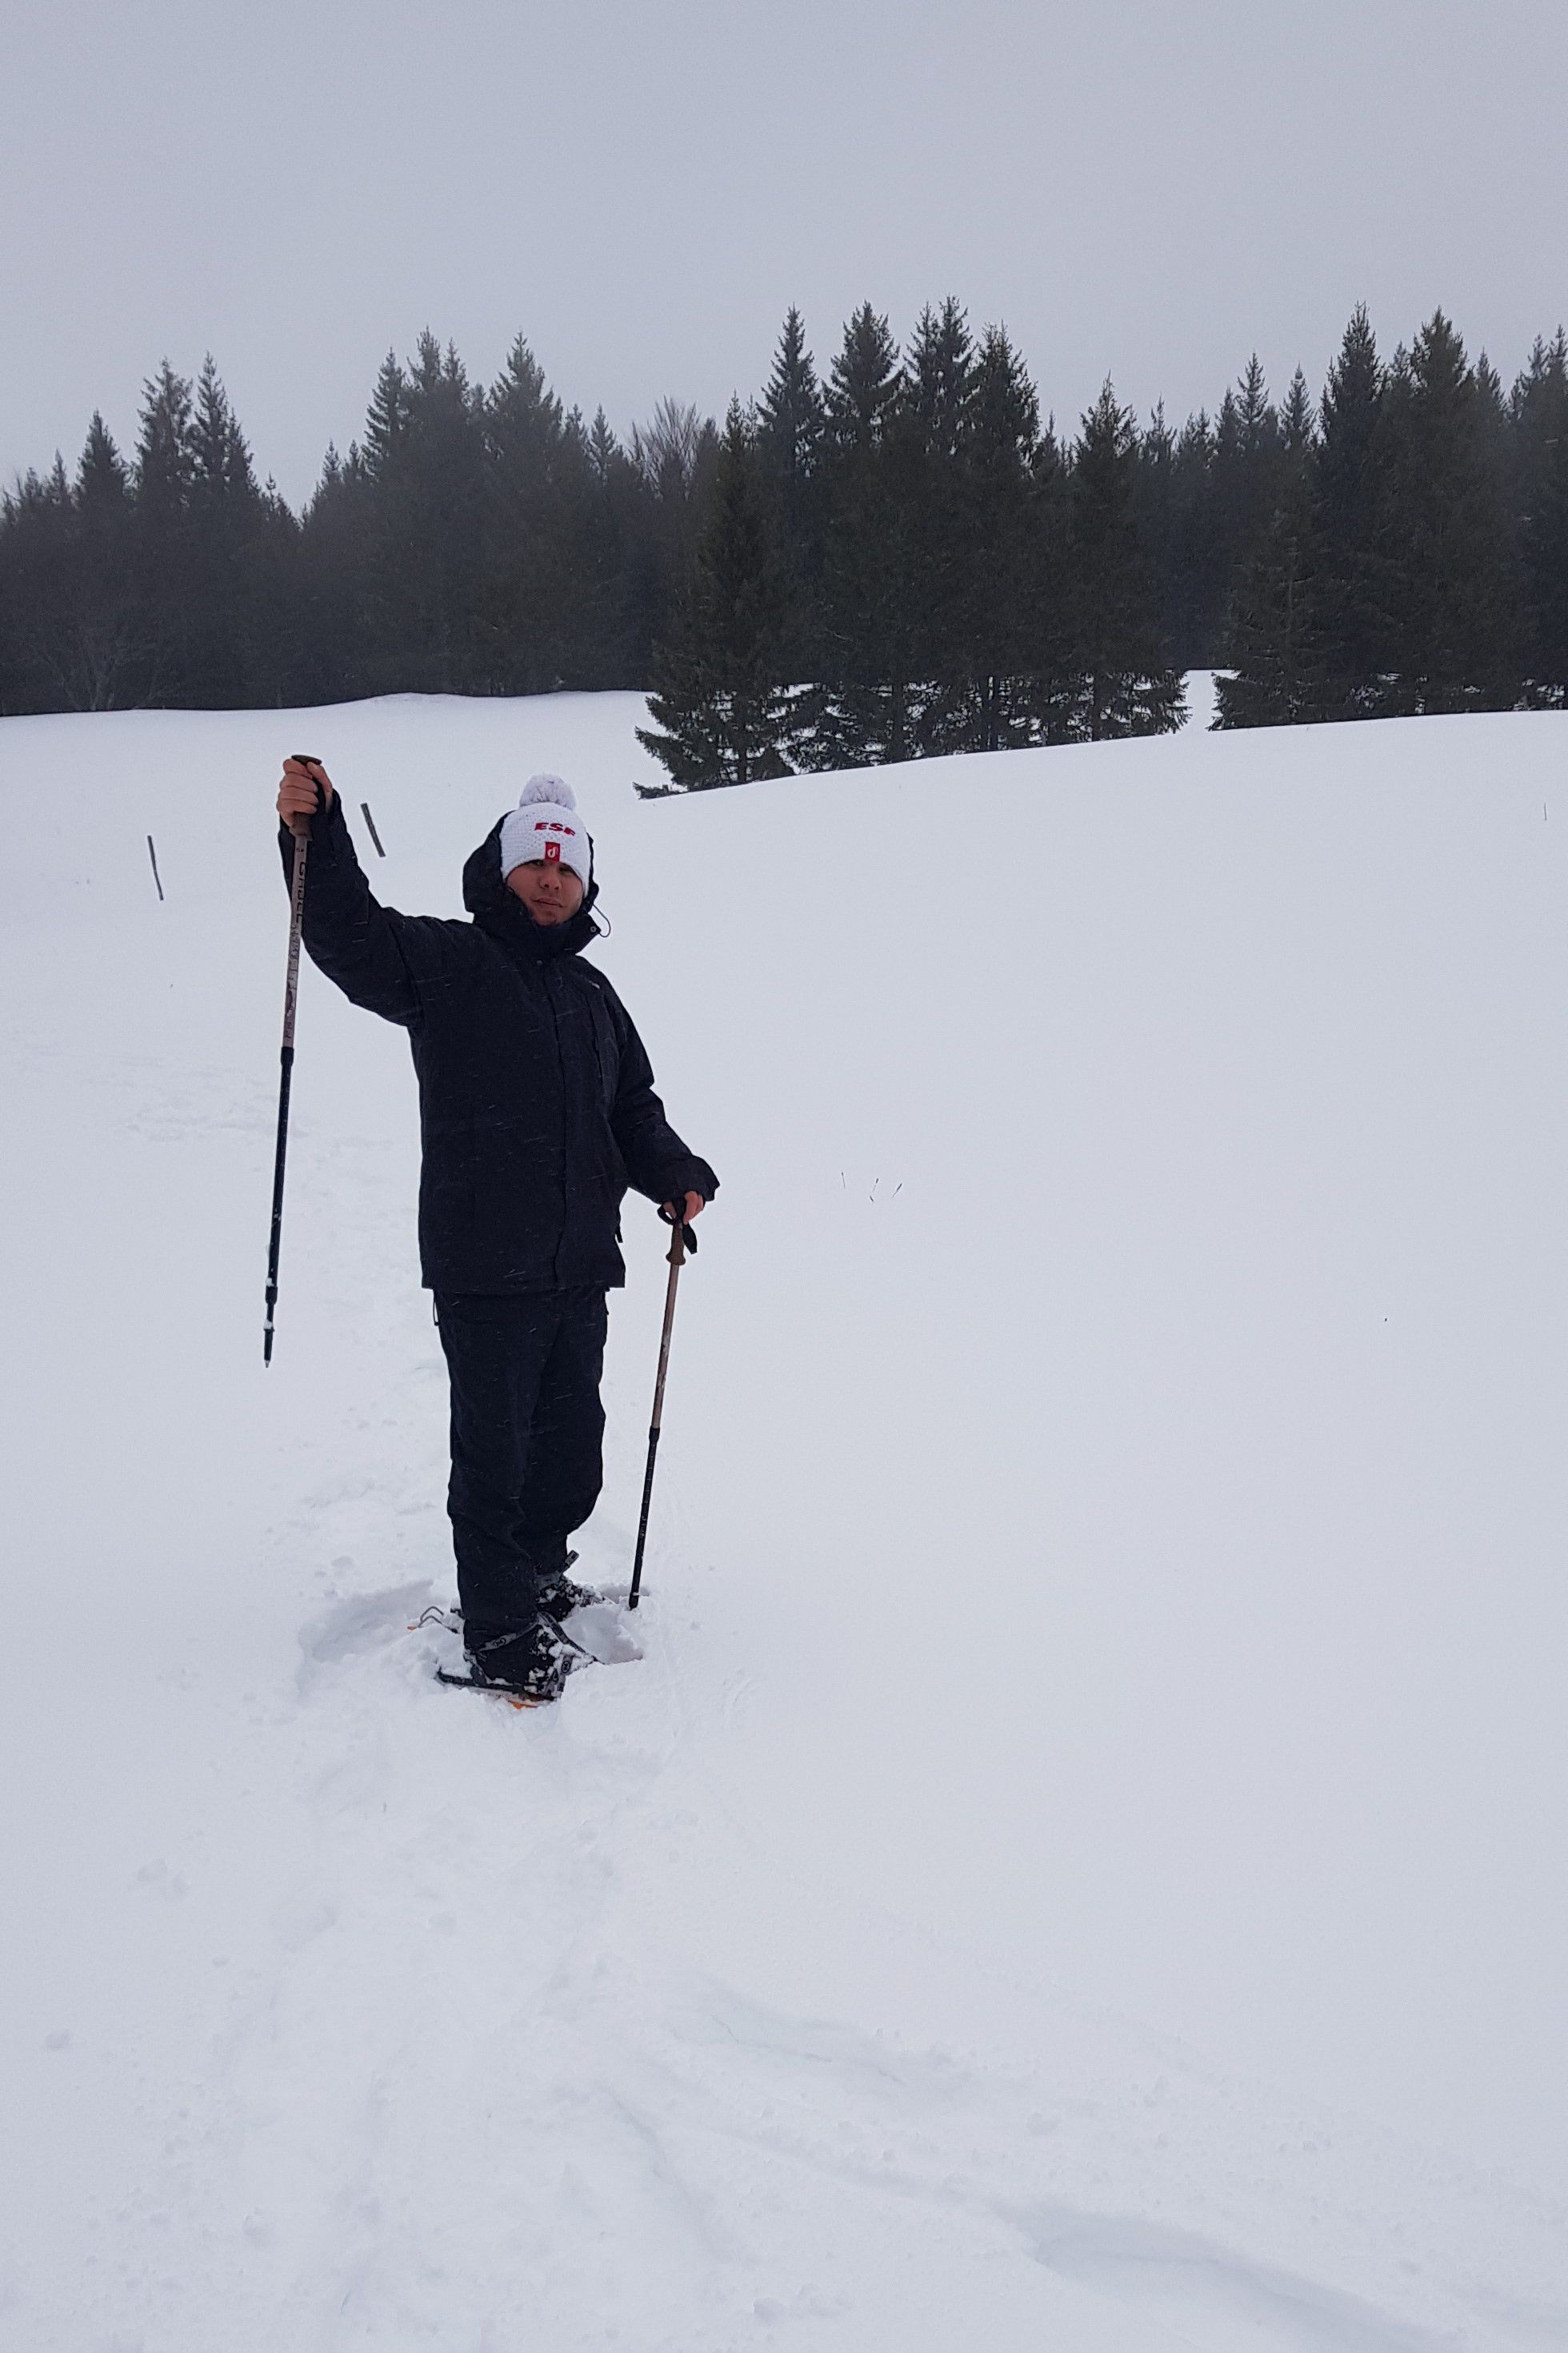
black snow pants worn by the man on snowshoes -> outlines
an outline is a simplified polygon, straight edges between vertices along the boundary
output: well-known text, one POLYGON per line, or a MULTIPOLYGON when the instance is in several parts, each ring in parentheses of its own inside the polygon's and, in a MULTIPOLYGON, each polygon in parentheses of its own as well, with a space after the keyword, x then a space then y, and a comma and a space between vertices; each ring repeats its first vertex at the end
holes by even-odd
POLYGON ((531 1626, 604 1478, 604 1292, 437 1292, 463 1640, 531 1626))

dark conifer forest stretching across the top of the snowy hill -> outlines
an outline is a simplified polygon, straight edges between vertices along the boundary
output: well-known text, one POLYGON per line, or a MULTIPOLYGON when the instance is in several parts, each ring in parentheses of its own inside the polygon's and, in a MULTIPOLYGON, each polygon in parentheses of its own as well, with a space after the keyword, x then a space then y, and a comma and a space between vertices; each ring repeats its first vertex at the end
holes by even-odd
POLYGON ((1222 727, 1563 706, 1563 332, 1505 388, 1441 311, 1387 358, 1356 311, 1316 398, 1253 360, 1067 428, 1001 327, 865 304, 630 440, 522 339, 480 386, 425 334, 301 513, 212 360, 0 496, 0 713, 632 687, 675 791, 1161 732, 1187 668, 1222 727))

